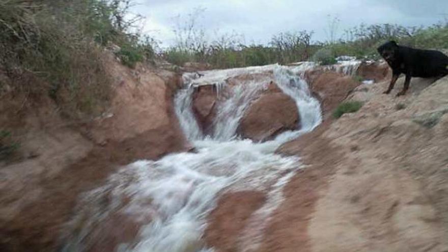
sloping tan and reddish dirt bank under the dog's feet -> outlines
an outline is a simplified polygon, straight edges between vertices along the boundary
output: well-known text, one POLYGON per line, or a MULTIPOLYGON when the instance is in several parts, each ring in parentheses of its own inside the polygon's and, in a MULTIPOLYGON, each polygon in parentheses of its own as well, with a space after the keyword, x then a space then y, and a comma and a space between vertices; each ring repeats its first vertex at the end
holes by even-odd
MULTIPOLYGON (((381 94, 387 80, 361 85, 348 97, 365 102, 357 113, 328 119, 279 148, 307 166, 285 187, 285 201, 253 251, 448 249, 448 78, 433 81, 413 79, 403 98, 381 94)), ((248 211, 250 197, 221 200, 209 227, 219 227, 226 209, 229 216, 248 211)), ((238 221, 229 218, 226 225, 238 227, 238 221)), ((208 243, 217 251, 246 251, 241 232, 228 230, 221 235, 232 242, 216 245, 208 231, 208 243)))

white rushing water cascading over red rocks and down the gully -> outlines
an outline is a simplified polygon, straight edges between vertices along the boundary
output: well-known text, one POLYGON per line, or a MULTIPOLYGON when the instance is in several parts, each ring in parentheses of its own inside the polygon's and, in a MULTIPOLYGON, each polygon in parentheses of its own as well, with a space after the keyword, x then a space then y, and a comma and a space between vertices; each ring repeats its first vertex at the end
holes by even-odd
POLYGON ((177 93, 174 103, 182 130, 196 152, 174 153, 157 161, 136 161, 111 176, 104 186, 87 193, 71 223, 72 226, 82 223, 82 228, 75 238, 70 238, 64 250, 86 249, 86 237, 96 223, 120 211, 145 224, 136 240, 121 244, 119 251, 213 251, 205 247, 201 237, 217 195, 225 191, 260 190, 266 192, 266 203, 249 218, 238 243, 241 251, 256 250, 263 238, 264 225, 283 200, 283 186, 301 167, 298 157, 283 157, 274 151, 312 130, 322 120, 319 102, 300 77, 310 67, 313 67, 310 63, 290 67, 269 65, 185 74, 184 88, 177 93), (228 88, 226 97, 218 102, 214 131, 204 135, 191 108, 194 87, 214 85, 219 91, 227 87, 231 77, 259 73, 267 74, 241 80, 228 88), (245 109, 270 81, 295 100, 301 129, 284 132, 264 143, 238 138, 236 129, 245 109))

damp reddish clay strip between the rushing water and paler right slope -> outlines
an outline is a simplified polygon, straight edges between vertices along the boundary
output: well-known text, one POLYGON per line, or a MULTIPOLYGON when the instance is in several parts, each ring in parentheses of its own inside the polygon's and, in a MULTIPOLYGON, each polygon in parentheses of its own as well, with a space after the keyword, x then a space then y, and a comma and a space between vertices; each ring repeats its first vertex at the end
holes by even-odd
POLYGON ((311 251, 307 233, 309 220, 320 192, 327 188, 334 173, 334 163, 343 158, 321 136, 329 124, 328 121, 323 123, 315 131, 286 143, 277 151, 279 154, 298 155, 302 163, 309 166, 298 172, 285 187, 285 201, 272 215, 258 251, 311 251))

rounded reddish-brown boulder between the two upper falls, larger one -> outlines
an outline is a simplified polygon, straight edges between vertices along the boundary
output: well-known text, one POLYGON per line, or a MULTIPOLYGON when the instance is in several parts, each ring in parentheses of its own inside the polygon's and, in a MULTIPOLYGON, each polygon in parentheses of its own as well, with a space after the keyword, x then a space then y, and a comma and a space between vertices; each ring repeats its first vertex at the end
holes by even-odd
POLYGON ((268 89, 247 108, 238 133, 254 141, 267 141, 279 133, 299 128, 295 101, 271 83, 268 89))

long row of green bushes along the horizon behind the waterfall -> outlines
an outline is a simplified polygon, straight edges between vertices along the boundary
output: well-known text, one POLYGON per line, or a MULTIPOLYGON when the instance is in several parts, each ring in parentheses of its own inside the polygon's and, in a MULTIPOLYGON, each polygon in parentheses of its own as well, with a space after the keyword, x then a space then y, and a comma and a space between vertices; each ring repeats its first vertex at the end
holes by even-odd
POLYGON ((245 44, 238 34, 215 35, 208 41, 206 31, 198 25, 204 10, 196 10, 175 27, 176 44, 160 54, 168 62, 182 66, 185 62, 201 62, 213 68, 289 64, 318 61, 334 64, 341 55, 377 60, 376 48, 387 40, 419 48, 448 48, 448 22, 430 27, 405 27, 396 24, 361 24, 345 31, 338 39, 338 18, 329 19, 325 32, 327 42, 312 42, 313 32, 299 31, 272 36, 267 45, 245 44))

